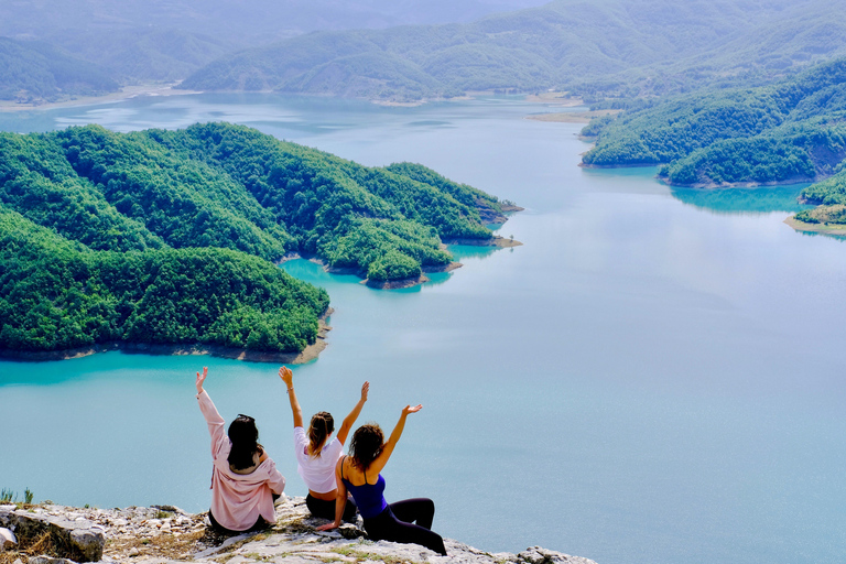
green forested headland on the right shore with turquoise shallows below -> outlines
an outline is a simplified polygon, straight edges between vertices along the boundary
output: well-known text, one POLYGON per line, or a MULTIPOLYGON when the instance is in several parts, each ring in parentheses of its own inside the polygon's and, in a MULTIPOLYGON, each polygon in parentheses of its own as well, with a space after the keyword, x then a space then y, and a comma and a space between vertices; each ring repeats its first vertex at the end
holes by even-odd
POLYGON ((758 88, 706 89, 634 101, 583 134, 587 166, 660 165, 675 186, 811 182, 801 198, 809 224, 846 224, 846 58, 758 88))

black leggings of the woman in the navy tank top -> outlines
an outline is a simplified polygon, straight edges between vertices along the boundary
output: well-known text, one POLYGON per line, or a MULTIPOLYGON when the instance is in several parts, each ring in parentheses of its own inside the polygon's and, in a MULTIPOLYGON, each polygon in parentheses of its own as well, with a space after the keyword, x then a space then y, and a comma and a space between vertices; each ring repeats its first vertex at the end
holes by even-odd
POLYGON ((435 503, 431 499, 406 499, 389 505, 371 519, 365 519, 365 530, 373 541, 420 544, 446 556, 444 540, 431 530, 434 517, 435 503))

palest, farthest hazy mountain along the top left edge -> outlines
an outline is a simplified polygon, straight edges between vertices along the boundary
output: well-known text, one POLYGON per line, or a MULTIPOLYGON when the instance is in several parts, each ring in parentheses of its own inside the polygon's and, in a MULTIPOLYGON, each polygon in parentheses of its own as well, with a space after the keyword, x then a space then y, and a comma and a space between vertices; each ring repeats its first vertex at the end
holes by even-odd
POLYGON ((470 21, 543 0, 9 0, 0 35, 182 30, 242 46, 315 30, 470 21))

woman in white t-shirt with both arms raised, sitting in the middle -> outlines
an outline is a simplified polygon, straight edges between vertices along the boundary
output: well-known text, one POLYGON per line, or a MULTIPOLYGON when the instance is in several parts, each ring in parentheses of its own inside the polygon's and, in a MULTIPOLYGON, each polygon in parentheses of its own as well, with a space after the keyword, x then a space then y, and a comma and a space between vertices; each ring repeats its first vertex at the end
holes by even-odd
MULTIPOLYGON (((361 408, 367 401, 367 392, 370 382, 361 386, 361 399, 356 406, 344 417, 338 434, 329 441, 329 435, 335 430, 335 420, 328 412, 315 413, 308 424, 308 432, 303 429, 303 410, 296 401, 294 392, 294 375, 288 367, 279 369, 279 376, 288 386, 288 398, 291 401, 291 411, 294 414, 294 453, 296 454, 296 471, 308 487, 308 496, 305 505, 314 517, 335 519, 335 496, 338 486, 335 481, 335 466, 344 451, 349 430, 361 413, 361 408)), ((351 521, 356 516, 356 505, 352 500, 347 502, 344 511, 344 521, 351 521), (351 506, 351 507, 350 507, 351 506)))

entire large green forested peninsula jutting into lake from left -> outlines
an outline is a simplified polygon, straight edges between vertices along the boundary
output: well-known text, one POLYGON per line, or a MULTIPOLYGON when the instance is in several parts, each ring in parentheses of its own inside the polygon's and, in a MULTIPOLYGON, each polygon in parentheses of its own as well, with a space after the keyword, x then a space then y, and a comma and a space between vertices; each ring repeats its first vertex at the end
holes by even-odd
POLYGON ((411 163, 366 167, 228 123, 0 133, 0 354, 105 344, 299 352, 314 256, 377 284, 496 242, 509 206, 411 163))

